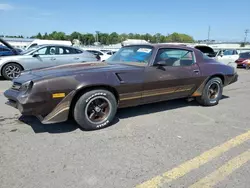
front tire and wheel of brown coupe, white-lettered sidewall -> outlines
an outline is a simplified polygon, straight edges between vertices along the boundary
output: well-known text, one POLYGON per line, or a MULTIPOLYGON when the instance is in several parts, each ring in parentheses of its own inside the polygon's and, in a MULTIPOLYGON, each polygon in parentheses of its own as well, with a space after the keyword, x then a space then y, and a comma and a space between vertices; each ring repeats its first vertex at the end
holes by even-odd
POLYGON ((107 90, 98 89, 86 92, 78 99, 73 109, 73 116, 82 129, 90 131, 109 126, 116 111, 117 101, 115 96, 107 90), (97 101, 99 104, 97 104, 97 101), (107 107, 104 107, 106 105, 107 107), (106 114, 106 116, 100 118, 100 121, 95 120, 96 117, 101 117, 103 114, 106 114))

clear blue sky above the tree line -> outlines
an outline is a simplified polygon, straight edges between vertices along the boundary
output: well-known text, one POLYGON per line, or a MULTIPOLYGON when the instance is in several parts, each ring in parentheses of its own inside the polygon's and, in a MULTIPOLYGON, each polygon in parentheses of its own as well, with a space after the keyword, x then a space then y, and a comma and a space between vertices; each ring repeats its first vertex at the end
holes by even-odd
POLYGON ((0 35, 179 32, 204 40, 210 25, 210 39, 243 41, 250 0, 0 0, 0 19, 0 35))

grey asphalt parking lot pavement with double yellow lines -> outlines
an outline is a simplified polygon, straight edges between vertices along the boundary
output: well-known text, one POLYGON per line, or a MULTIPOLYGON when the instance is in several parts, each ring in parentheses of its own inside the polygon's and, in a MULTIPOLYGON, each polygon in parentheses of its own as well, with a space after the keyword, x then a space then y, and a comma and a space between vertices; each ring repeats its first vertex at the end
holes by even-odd
POLYGON ((122 109, 113 126, 84 132, 42 125, 4 105, 1 188, 248 187, 250 72, 214 107, 174 100, 122 109))

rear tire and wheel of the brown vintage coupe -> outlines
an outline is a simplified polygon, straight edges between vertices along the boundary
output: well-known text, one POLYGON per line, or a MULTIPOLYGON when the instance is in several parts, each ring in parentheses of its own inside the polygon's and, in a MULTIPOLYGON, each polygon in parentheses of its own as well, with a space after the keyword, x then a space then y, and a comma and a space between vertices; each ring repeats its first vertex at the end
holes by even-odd
POLYGON ((219 100, 222 97, 223 92, 223 83, 222 80, 219 77, 211 78, 205 85, 202 95, 200 97, 197 97, 196 100, 199 104, 203 106, 215 106, 219 103, 219 100), (211 87, 218 87, 218 91, 216 94, 212 94, 211 87), (212 98, 212 96, 214 96, 212 98))

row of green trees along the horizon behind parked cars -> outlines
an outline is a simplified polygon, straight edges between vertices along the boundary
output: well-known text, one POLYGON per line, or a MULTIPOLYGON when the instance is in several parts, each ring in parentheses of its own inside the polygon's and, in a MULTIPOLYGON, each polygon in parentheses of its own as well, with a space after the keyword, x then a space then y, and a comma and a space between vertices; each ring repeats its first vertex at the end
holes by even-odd
MULTIPOLYGON (((23 36, 6 36, 12 38, 23 38, 23 36)), ((118 34, 116 32, 112 33, 102 33, 98 32, 97 34, 92 33, 80 33, 73 32, 69 35, 64 32, 54 31, 52 33, 38 33, 35 36, 28 38, 37 38, 37 39, 47 39, 47 40, 70 40, 78 39, 83 45, 93 45, 95 42, 100 42, 103 45, 117 44, 125 41, 126 39, 140 39, 146 40, 150 43, 162 43, 162 42, 194 42, 192 36, 174 32, 172 34, 162 35, 160 33, 156 33, 151 35, 149 33, 146 34, 138 34, 138 33, 122 33, 118 34)))

